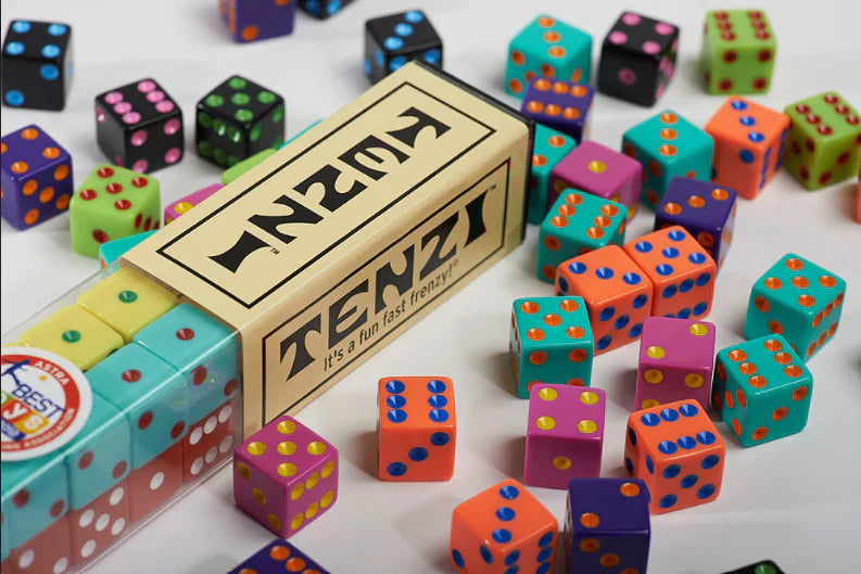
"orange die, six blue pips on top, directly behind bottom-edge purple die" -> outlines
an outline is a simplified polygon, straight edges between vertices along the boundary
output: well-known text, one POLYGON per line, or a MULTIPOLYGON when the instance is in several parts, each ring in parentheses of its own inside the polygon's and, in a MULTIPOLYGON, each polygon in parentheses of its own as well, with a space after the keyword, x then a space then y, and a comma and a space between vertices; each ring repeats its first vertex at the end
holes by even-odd
POLYGON ((654 514, 718 498, 723 458, 723 439, 697 400, 638 410, 628 419, 624 467, 648 486, 654 514))

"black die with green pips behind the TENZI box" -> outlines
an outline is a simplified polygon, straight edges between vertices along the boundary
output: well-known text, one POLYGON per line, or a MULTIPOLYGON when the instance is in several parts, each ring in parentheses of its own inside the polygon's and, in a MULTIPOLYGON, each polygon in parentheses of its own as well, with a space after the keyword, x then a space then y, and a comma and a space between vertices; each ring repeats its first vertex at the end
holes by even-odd
POLYGON ((198 102, 198 155, 229 167, 284 141, 284 99, 232 76, 198 102))

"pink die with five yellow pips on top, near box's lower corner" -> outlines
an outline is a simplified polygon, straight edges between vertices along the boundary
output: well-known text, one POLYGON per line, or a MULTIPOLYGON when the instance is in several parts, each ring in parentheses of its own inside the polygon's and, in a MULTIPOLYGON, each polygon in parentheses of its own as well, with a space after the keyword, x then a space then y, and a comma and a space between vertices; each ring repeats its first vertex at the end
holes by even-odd
POLYGON ((233 499, 288 538, 338 498, 338 450, 291 417, 278 417, 233 455, 233 499))

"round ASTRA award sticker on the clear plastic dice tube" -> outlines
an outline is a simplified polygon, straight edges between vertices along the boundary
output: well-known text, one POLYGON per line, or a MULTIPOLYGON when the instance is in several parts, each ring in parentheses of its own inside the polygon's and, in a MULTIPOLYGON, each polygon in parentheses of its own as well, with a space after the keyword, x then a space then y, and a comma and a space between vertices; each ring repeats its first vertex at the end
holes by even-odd
POLYGON ((29 347, 0 357, 0 436, 3 462, 27 460, 68 443, 87 422, 92 392, 80 369, 29 347))

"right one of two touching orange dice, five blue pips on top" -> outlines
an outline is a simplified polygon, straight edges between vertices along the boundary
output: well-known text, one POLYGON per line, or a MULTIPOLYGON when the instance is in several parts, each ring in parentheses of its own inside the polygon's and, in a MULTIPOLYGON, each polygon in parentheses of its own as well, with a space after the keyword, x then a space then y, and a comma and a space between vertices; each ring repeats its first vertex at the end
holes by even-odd
POLYGON ((709 314, 718 268, 683 227, 659 229, 623 248, 651 282, 651 315, 687 319, 709 314))

